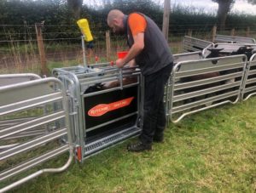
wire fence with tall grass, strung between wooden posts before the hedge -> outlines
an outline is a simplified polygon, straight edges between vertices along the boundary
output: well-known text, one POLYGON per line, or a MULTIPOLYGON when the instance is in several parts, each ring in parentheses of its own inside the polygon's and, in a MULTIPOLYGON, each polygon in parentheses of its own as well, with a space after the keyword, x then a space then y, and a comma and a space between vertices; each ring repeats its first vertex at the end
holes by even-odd
MULTIPOLYGON (((182 42, 185 35, 212 41, 213 26, 180 25, 169 29, 168 43, 173 54, 182 53, 182 42)), ((94 48, 86 48, 85 56, 88 65, 116 60, 116 52, 126 50, 125 36, 110 33, 110 56, 107 56, 106 31, 91 28, 94 37, 94 48)), ((242 26, 237 29, 217 31, 218 34, 239 37, 256 37, 256 29, 242 26)), ((77 27, 43 26, 45 60, 49 69, 68 65, 83 65, 81 33, 77 27), (68 31, 66 30, 68 28, 68 31), (52 30, 55 31, 52 31, 52 30), (71 30, 70 30, 71 29, 71 30)), ((85 43, 86 46, 86 43, 85 43)), ((40 50, 35 26, 0 25, 0 67, 1 73, 36 72, 40 73, 40 50)))

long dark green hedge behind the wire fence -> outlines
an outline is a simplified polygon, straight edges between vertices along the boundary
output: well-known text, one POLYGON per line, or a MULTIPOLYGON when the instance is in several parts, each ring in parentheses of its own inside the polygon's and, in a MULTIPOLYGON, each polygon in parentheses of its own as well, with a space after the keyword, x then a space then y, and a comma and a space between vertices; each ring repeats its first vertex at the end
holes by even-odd
MULTIPOLYGON (((108 30, 107 15, 111 9, 121 9, 125 14, 142 12, 151 17, 158 26, 162 26, 163 8, 153 0, 113 0, 101 7, 83 5, 81 18, 90 21, 93 35, 98 39, 105 38, 108 30)), ((1 40, 34 40, 34 24, 44 21, 44 38, 76 38, 80 31, 68 9, 65 0, 1 0, 0 1, 0 39, 1 40)), ((172 7, 170 15, 170 33, 183 35, 189 29, 193 31, 211 31, 216 23, 215 14, 206 14, 195 7, 172 7)), ((229 14, 227 28, 255 30, 256 17, 247 14, 229 14)), ((73 40, 77 42, 77 40, 73 40)), ((78 40, 79 41, 79 40, 78 40)))

